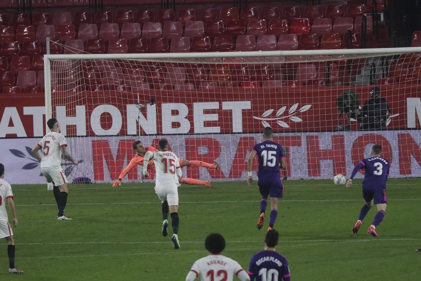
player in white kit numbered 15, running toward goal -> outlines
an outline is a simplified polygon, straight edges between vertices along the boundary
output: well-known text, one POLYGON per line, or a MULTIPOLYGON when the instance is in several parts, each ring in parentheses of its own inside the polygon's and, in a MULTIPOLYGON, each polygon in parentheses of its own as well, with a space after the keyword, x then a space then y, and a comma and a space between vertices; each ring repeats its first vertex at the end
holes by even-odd
POLYGON ((171 213, 171 225, 173 227, 173 236, 171 241, 174 243, 174 249, 180 249, 179 242, 179 192, 177 187, 179 184, 179 177, 181 177, 181 169, 179 158, 171 151, 168 151, 168 142, 166 139, 161 139, 158 144, 159 151, 148 151, 145 154, 143 164, 143 175, 145 178, 149 177, 146 168, 149 160, 154 161, 156 169, 155 177, 155 193, 162 201, 162 215, 163 226, 162 235, 168 234, 168 210, 171 213))

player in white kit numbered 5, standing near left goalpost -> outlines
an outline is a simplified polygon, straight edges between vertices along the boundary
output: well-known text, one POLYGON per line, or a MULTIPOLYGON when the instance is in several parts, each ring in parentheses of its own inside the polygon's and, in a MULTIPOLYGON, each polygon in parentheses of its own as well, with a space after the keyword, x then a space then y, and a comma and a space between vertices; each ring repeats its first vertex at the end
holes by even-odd
POLYGON ((59 121, 56 118, 51 118, 47 121, 47 125, 51 131, 32 148, 32 154, 41 162, 41 173, 43 173, 47 182, 53 183, 53 193, 59 209, 57 219, 66 220, 70 219, 64 215, 69 189, 67 188, 66 175, 61 169, 61 155, 75 165, 78 162, 73 160, 67 152, 67 142, 64 136, 60 134, 59 121), (38 150, 41 150, 42 156, 38 154, 38 150))

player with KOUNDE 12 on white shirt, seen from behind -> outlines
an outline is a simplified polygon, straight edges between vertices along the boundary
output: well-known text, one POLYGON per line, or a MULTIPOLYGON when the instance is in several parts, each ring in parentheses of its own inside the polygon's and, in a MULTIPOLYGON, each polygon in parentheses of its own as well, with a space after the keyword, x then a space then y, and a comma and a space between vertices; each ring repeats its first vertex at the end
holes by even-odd
POLYGON ((221 255, 225 248, 225 239, 221 234, 212 233, 205 240, 205 248, 210 255, 197 260, 187 274, 186 281, 193 281, 200 275, 201 281, 225 280, 232 281, 234 274, 241 281, 250 277, 235 260, 221 255))

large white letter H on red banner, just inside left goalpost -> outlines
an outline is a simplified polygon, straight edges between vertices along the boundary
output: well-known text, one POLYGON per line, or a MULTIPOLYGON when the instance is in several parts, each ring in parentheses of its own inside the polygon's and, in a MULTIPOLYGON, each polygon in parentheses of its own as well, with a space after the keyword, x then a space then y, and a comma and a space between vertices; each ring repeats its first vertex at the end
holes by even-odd
POLYGON ((56 106, 56 118, 60 123, 61 134, 66 135, 67 125, 76 125, 78 136, 86 135, 86 112, 84 105, 76 106, 76 116, 67 116, 65 106, 56 106))

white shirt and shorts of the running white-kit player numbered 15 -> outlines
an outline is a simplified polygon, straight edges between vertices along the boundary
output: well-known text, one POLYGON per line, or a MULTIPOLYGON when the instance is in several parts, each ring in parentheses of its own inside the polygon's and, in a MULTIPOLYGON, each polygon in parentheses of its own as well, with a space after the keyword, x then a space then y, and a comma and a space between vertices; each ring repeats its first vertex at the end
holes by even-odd
MULTIPOLYGON (((179 158, 171 151, 161 150, 148 151, 144 161, 146 166, 149 160, 155 163, 155 193, 158 198, 162 202, 168 201, 169 206, 178 206, 179 192, 177 187, 180 186, 179 177, 181 177, 179 158), (147 159, 148 157, 149 159, 147 159)), ((144 169, 146 168, 144 167, 144 169)))

